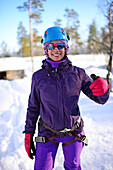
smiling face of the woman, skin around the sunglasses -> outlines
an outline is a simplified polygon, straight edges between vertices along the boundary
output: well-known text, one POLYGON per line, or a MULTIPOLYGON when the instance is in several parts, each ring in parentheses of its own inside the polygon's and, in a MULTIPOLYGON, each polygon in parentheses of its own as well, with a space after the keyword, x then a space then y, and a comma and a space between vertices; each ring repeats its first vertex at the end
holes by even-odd
MULTIPOLYGON (((60 40, 50 41, 49 44, 59 44, 62 43, 60 40)), ((65 55, 65 48, 58 49, 55 45, 53 50, 48 49, 48 55, 53 61, 60 61, 65 55)))

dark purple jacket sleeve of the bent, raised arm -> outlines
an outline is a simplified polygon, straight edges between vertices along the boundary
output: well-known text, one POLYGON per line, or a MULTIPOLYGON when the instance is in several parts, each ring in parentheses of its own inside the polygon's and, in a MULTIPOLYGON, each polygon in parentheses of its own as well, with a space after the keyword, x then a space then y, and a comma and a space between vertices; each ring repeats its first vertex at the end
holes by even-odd
POLYGON ((82 91, 83 93, 88 96, 91 100, 94 100, 96 103, 105 104, 109 98, 109 89, 101 96, 94 96, 92 90, 89 88, 93 80, 85 73, 83 70, 83 77, 82 77, 82 91))

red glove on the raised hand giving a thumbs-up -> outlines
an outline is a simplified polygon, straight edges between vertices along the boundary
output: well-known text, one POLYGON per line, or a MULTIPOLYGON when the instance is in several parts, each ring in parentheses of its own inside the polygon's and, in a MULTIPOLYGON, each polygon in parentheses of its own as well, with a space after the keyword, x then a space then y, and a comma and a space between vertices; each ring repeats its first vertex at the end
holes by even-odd
POLYGON ((99 77, 89 86, 89 88, 92 90, 94 96, 101 96, 109 89, 109 85, 107 80, 103 80, 99 77))

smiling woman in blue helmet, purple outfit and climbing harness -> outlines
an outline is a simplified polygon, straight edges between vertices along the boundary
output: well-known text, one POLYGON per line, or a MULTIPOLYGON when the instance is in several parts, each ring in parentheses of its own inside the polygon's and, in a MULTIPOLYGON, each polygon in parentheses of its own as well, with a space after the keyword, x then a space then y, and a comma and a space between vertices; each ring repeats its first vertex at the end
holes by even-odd
POLYGON ((72 66, 67 57, 69 36, 61 27, 50 27, 44 33, 47 58, 42 69, 32 76, 31 93, 25 125, 25 149, 33 159, 35 170, 52 170, 58 145, 62 142, 64 168, 80 170, 80 154, 87 144, 78 100, 82 91, 91 100, 104 104, 109 98, 106 80, 93 81, 84 69, 72 66), (38 116, 36 151, 33 143, 38 116))

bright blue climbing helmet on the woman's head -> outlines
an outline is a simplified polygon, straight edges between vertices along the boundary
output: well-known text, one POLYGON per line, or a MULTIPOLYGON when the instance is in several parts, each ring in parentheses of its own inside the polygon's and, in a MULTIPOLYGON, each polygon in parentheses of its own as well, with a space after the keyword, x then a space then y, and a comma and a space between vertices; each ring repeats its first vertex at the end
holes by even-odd
POLYGON ((66 34, 65 30, 59 26, 48 28, 44 33, 44 39, 41 40, 43 44, 52 40, 69 40, 69 35, 66 34))

